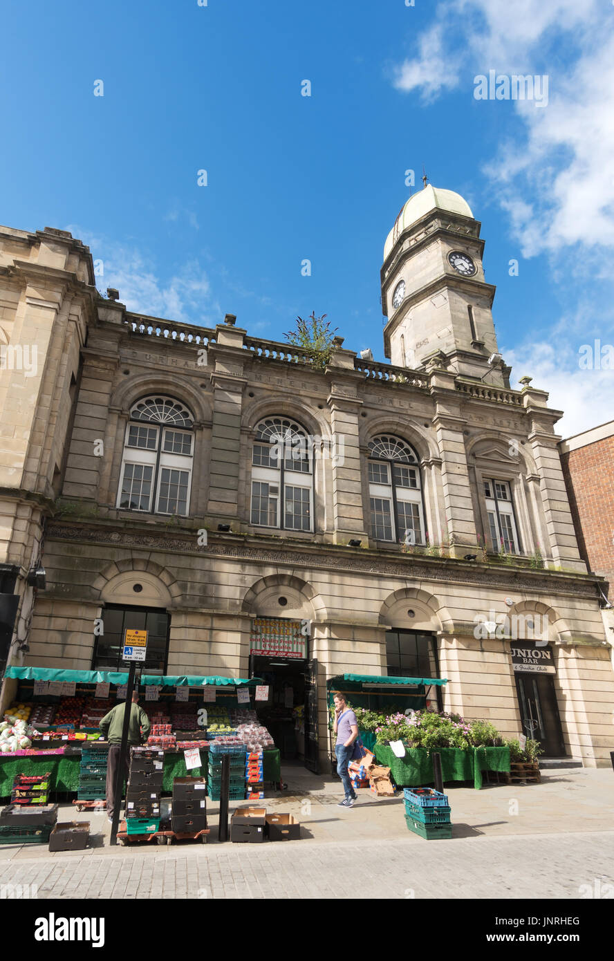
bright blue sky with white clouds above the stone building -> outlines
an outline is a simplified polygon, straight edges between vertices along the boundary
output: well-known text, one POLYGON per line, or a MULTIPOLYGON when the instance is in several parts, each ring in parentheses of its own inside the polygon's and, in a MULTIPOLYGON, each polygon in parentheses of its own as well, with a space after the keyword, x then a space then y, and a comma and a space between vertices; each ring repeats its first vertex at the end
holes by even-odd
POLYGON ((3 19, 0 221, 71 230, 102 290, 267 339, 314 309, 383 359, 383 241, 424 163, 482 223, 514 379, 551 390, 563 434, 614 416, 614 371, 578 365, 614 343, 606 0, 34 0, 3 19), (489 69, 548 74, 548 105, 476 100, 489 69))

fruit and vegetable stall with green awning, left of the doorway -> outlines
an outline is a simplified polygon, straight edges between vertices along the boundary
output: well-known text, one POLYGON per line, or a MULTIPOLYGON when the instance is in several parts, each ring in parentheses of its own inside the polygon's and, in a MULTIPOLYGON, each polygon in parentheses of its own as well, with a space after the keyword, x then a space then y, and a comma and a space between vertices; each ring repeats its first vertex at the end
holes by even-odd
MULTIPOLYGON (((11 795, 17 774, 49 772, 55 794, 76 792, 81 748, 86 743, 100 743, 100 720, 125 698, 128 673, 11 667, 5 677, 12 700, 7 713, 38 735, 32 733, 27 751, 0 753, 0 798, 11 795), (37 721, 35 727, 31 719, 42 719, 42 724, 37 721)), ((201 771, 200 767, 186 768, 186 750, 199 749, 206 773, 207 739, 237 730, 250 750, 262 749, 264 781, 280 784, 280 752, 268 732, 258 726, 250 706, 258 681, 200 676, 140 678, 141 704, 152 724, 150 741, 164 749, 164 791, 171 791, 173 777, 201 771)))

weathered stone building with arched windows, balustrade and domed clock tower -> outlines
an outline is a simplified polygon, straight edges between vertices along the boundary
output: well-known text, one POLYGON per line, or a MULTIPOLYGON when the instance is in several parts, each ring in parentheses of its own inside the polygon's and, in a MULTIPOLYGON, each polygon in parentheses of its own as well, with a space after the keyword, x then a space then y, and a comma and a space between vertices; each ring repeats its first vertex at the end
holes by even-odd
POLYGON ((160 670, 244 677, 258 625, 307 625, 321 758, 327 678, 420 669, 448 678, 446 709, 608 763, 614 677, 561 412, 528 378, 509 387, 482 250, 462 198, 415 194, 381 269, 393 364, 336 338, 320 369, 232 315, 131 313, 70 234, 0 229, 1 335, 38 348, 36 375, 2 371, 3 550, 29 648, 15 633, 12 661, 111 667, 142 610, 160 670), (44 590, 25 583, 38 559, 44 590), (549 658, 539 689, 519 647, 549 658))

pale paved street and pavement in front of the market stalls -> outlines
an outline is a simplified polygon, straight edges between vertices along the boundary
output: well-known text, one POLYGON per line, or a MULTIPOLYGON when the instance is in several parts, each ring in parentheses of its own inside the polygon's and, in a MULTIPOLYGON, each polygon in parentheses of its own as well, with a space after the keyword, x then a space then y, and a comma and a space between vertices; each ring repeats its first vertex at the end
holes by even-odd
MULTIPOLYGON (((90 815, 92 846, 50 854, 0 849, 0 898, 36 885, 38 899, 335 898, 357 879, 362 899, 614 898, 614 778, 611 771, 544 772, 542 784, 451 788, 453 838, 434 842, 407 831, 401 799, 361 792, 352 810, 336 807, 338 781, 286 768, 286 796, 269 810, 297 814, 301 840, 207 846, 109 846, 104 814, 90 815), (454 880, 453 880, 454 879, 454 880)), ((235 805, 233 805, 235 806, 235 805)), ((217 805, 210 806, 216 824, 217 805)), ((87 820, 74 809, 61 820, 87 820)))

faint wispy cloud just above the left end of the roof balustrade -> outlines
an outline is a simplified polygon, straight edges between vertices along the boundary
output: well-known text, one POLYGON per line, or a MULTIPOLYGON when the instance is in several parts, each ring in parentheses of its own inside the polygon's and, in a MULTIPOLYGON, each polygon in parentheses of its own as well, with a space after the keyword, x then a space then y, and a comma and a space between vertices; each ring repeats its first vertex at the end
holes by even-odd
POLYGON ((87 244, 93 259, 102 260, 104 274, 96 277, 99 290, 116 287, 129 310, 186 324, 218 322, 221 308, 212 302, 209 278, 198 259, 186 261, 162 280, 154 260, 134 246, 96 237, 78 226, 66 230, 87 244))

